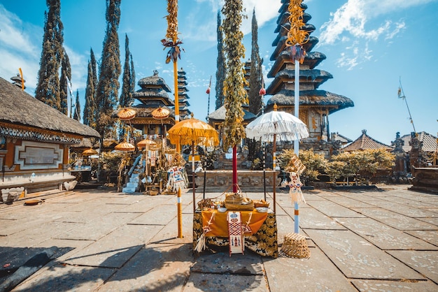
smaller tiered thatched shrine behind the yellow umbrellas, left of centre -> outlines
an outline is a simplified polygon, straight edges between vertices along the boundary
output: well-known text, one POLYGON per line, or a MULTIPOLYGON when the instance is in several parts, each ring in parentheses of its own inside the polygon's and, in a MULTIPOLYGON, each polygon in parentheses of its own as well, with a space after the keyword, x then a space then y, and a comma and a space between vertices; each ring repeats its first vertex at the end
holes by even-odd
POLYGON ((169 98, 170 87, 163 78, 158 76, 158 71, 154 75, 141 78, 138 82, 141 89, 132 94, 139 104, 134 105, 136 116, 130 120, 132 126, 143 131, 144 135, 164 135, 167 129, 175 124, 174 101, 169 98), (170 111, 169 117, 165 119, 155 119, 152 115, 157 108, 167 108, 170 111))

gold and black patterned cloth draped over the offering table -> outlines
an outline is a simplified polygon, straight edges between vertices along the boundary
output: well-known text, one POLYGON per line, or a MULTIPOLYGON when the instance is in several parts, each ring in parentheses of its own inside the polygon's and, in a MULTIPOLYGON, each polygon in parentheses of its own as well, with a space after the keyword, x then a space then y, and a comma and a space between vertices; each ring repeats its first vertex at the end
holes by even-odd
MULTIPOLYGON (((257 210, 241 212, 241 222, 244 227, 245 248, 260 256, 278 257, 277 223, 274 212, 259 213, 257 210), (248 223, 248 224, 247 224, 248 223), (247 228, 247 226, 249 228, 247 228)), ((198 239, 205 235, 206 249, 215 251, 215 247, 229 245, 227 230, 227 212, 206 210, 195 212, 193 216, 193 249, 198 239), (212 219, 213 216, 213 219, 212 219), (203 219, 204 218, 204 219, 203 219), (204 233, 204 231, 207 231, 204 233)))

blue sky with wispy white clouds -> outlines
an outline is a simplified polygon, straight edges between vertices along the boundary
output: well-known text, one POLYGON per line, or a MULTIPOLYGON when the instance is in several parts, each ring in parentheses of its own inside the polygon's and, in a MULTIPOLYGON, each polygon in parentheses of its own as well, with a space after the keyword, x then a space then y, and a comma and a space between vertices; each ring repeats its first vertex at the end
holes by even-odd
MULTIPOLYGON (((319 89, 351 98, 353 108, 330 115, 330 131, 355 140, 362 129, 376 140, 390 145, 395 133, 413 131, 406 103, 397 97, 402 82, 416 131, 437 135, 438 94, 438 0, 306 0, 316 27, 312 36, 320 39, 313 51, 327 56, 318 68, 333 79, 319 89)), ((280 0, 243 0, 246 7, 242 31, 246 59, 250 57, 250 21, 253 8, 259 26, 258 44, 264 58, 265 82, 273 61, 269 61, 276 38, 274 30, 280 0)), ((216 15, 219 0, 179 1, 178 22, 183 68, 188 78, 190 110, 205 120, 215 110, 216 15), (213 76, 210 106, 206 88, 213 76)), ((26 91, 34 95, 41 43, 45 1, 0 0, 0 77, 9 80, 22 68, 26 91)), ((85 104, 85 82, 90 48, 101 56, 105 35, 104 0, 61 0, 64 47, 72 66, 73 91, 79 90, 85 104)), ((120 59, 125 59, 125 34, 134 58, 136 81, 157 70, 173 89, 173 66, 165 64, 164 38, 167 1, 122 0, 118 30, 120 59)), ((139 87, 136 87, 136 90, 139 87)), ((76 96, 76 95, 75 95, 76 96)), ((265 102, 270 96, 265 96, 265 102)), ((83 112, 83 108, 81 109, 83 112)))

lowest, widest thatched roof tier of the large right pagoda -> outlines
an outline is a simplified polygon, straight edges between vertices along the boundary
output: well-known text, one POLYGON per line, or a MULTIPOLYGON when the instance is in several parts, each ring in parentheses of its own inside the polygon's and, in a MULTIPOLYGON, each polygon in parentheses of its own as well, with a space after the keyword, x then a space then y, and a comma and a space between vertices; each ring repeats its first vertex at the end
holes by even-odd
MULTIPOLYGON (((267 108, 272 108, 274 103, 277 105, 295 105, 295 92, 293 90, 282 89, 274 94, 267 102, 267 108)), ((326 106, 330 113, 337 112, 343 108, 354 106, 353 101, 346 96, 326 92, 325 90, 303 90, 299 92, 299 105, 320 105, 326 106)))

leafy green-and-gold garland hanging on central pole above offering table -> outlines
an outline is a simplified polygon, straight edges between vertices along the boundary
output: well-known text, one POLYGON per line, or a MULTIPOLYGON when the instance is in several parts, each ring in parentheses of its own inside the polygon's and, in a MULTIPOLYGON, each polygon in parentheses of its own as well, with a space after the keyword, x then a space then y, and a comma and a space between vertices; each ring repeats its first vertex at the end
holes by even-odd
POLYGON ((222 8, 225 20, 222 22, 224 32, 224 51, 226 57, 226 71, 224 81, 224 105, 227 110, 224 126, 227 129, 225 147, 239 145, 245 138, 243 128, 242 103, 246 101, 245 76, 241 59, 245 57, 243 47, 243 33, 240 31, 242 22, 242 0, 226 0, 222 8))

